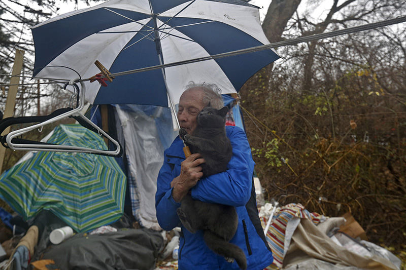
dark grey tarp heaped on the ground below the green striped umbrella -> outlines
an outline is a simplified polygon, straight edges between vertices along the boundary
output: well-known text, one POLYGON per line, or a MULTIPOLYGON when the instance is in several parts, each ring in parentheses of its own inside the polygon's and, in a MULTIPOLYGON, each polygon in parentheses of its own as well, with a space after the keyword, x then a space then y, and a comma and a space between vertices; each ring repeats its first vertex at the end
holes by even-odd
POLYGON ((162 249, 160 233, 150 229, 120 229, 102 235, 78 234, 59 245, 52 245, 41 259, 52 259, 50 269, 138 269, 155 268, 162 249))

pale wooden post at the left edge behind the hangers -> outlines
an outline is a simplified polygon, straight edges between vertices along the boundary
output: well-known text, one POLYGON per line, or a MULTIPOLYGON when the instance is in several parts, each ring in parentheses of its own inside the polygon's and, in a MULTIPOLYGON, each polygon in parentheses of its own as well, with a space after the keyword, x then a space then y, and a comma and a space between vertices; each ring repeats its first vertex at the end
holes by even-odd
MULTIPOLYGON (((24 58, 24 51, 16 49, 16 56, 14 58, 13 64, 13 71, 11 75, 15 75, 15 77, 11 77, 10 79, 10 87, 9 93, 7 94, 7 101, 6 101, 6 108, 3 113, 3 118, 12 117, 14 115, 14 107, 16 104, 16 97, 17 97, 17 90, 18 84, 20 83, 20 73, 22 69, 22 61, 24 58)), ((10 127, 8 127, 3 133, 7 134, 10 132, 10 127)), ((6 152, 6 148, 2 145, 0 146, 0 172, 3 169, 3 162, 4 162, 4 155, 6 152)))

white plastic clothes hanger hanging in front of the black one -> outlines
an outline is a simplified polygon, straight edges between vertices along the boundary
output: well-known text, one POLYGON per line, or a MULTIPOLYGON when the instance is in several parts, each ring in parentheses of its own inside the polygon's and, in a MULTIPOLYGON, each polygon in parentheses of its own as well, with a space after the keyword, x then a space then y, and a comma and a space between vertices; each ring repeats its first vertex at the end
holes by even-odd
MULTIPOLYGON (((64 113, 61 113, 45 122, 32 125, 26 128, 22 128, 19 130, 15 130, 7 134, 6 137, 6 142, 7 145, 13 149, 13 150, 34 150, 34 151, 54 151, 54 152, 84 152, 84 153, 94 153, 97 155, 104 155, 104 156, 113 156, 113 157, 120 157, 122 155, 122 147, 118 141, 113 139, 109 134, 107 134, 103 129, 100 129, 97 125, 95 125, 93 122, 91 122, 85 115, 81 113, 81 110, 83 109, 85 105, 85 85, 83 82, 80 82, 81 85, 81 90, 79 91, 79 87, 77 86, 76 82, 79 81, 79 79, 71 80, 69 84, 74 86, 76 89, 76 92, 74 95, 71 97, 75 97, 75 94, 79 94, 79 101, 77 104, 77 107, 66 111, 64 113), (79 93, 78 93, 79 92, 79 93), (83 126, 83 125, 90 125, 90 127, 86 127, 91 129, 92 131, 98 132, 99 135, 103 135, 106 138, 108 138, 115 146, 116 150, 103 150, 103 149, 93 149, 93 148, 87 148, 87 147, 79 147, 79 146, 72 146, 72 145, 57 145, 57 144, 47 144, 47 143, 13 143, 13 138, 20 136, 22 134, 25 134, 31 130, 42 128, 45 125, 51 124, 53 122, 56 122, 58 120, 61 120, 66 117, 74 117, 75 119, 79 120, 78 122, 83 126), (82 123, 81 123, 82 122, 82 123)), ((66 85, 65 85, 66 87, 66 85)), ((17 141, 17 140, 16 140, 17 141)))

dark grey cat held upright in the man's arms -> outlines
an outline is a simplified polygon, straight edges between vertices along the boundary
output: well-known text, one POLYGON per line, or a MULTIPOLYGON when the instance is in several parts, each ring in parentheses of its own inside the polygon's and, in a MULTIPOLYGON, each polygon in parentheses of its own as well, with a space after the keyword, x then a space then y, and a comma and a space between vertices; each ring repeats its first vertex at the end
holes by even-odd
MULTIPOLYGON (((179 134, 192 153, 200 153, 206 163, 202 164, 204 177, 227 170, 232 156, 232 146, 225 132, 225 115, 228 108, 203 108, 197 115, 197 126, 189 135, 184 129, 179 134)), ((247 268, 244 251, 229 243, 238 227, 238 215, 235 207, 193 200, 187 194, 177 209, 179 219, 187 230, 195 233, 204 230, 204 240, 215 253, 232 262, 234 259, 241 269, 247 268)))

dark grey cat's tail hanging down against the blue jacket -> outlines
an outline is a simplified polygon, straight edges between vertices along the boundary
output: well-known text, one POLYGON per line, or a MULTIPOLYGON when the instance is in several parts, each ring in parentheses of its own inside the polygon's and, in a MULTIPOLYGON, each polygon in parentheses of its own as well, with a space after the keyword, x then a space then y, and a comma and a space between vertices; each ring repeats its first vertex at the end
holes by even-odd
POLYGON ((206 245, 220 256, 233 258, 241 269, 247 269, 247 259, 244 251, 238 246, 228 243, 221 237, 213 234, 210 230, 206 230, 204 234, 206 245))

